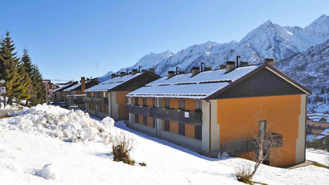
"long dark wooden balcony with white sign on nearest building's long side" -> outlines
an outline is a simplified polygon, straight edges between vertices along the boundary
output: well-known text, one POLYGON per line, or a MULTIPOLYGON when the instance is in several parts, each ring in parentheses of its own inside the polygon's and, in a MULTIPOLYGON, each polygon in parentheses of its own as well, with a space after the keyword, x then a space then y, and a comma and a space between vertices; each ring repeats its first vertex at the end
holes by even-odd
POLYGON ((202 125, 202 112, 127 105, 127 112, 190 125, 202 125))

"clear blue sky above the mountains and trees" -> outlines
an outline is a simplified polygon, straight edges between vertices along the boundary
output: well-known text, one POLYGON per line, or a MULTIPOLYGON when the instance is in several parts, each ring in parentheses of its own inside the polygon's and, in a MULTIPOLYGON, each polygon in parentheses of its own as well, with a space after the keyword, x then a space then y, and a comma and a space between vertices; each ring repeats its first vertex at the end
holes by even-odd
POLYGON ((180 51, 208 40, 239 41, 271 19, 305 27, 329 14, 328 0, 73 1, 1 0, 0 34, 9 29, 44 78, 80 79, 132 66, 150 52, 180 51))

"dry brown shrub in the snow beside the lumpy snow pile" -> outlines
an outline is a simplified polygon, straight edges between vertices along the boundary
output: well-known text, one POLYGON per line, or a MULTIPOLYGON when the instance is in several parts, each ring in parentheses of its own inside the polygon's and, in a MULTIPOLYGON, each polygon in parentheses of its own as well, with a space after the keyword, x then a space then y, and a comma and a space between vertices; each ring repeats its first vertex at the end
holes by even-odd
POLYGON ((130 159, 130 152, 134 149, 134 139, 130 138, 122 132, 112 138, 112 151, 114 161, 122 161, 125 164, 134 164, 134 160, 130 159))

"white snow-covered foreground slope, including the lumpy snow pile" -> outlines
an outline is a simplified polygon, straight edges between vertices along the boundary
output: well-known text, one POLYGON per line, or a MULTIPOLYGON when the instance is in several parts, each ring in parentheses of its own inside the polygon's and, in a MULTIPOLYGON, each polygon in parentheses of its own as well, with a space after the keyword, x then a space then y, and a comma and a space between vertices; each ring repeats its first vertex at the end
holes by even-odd
MULTIPOLYGON (((38 106, 19 114, 0 119, 1 184, 242 184, 235 169, 253 164, 241 158, 207 158, 80 111, 38 106), (131 157, 147 167, 112 161, 106 138, 118 132, 134 138, 131 157)), ((329 170, 312 165, 292 170, 261 165, 254 180, 327 184, 328 177, 329 170)))

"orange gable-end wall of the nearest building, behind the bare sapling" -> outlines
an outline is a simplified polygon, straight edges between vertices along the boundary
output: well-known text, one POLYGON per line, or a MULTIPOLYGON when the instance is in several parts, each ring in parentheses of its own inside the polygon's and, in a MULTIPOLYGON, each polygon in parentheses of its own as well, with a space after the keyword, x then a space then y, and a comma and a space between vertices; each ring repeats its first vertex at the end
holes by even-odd
MULTIPOLYGON (((220 142, 253 138, 253 134, 258 134, 258 121, 266 120, 271 132, 283 136, 282 147, 271 149, 270 165, 295 164, 300 105, 301 95, 219 99, 220 142)), ((252 158, 253 155, 241 157, 252 158)))

